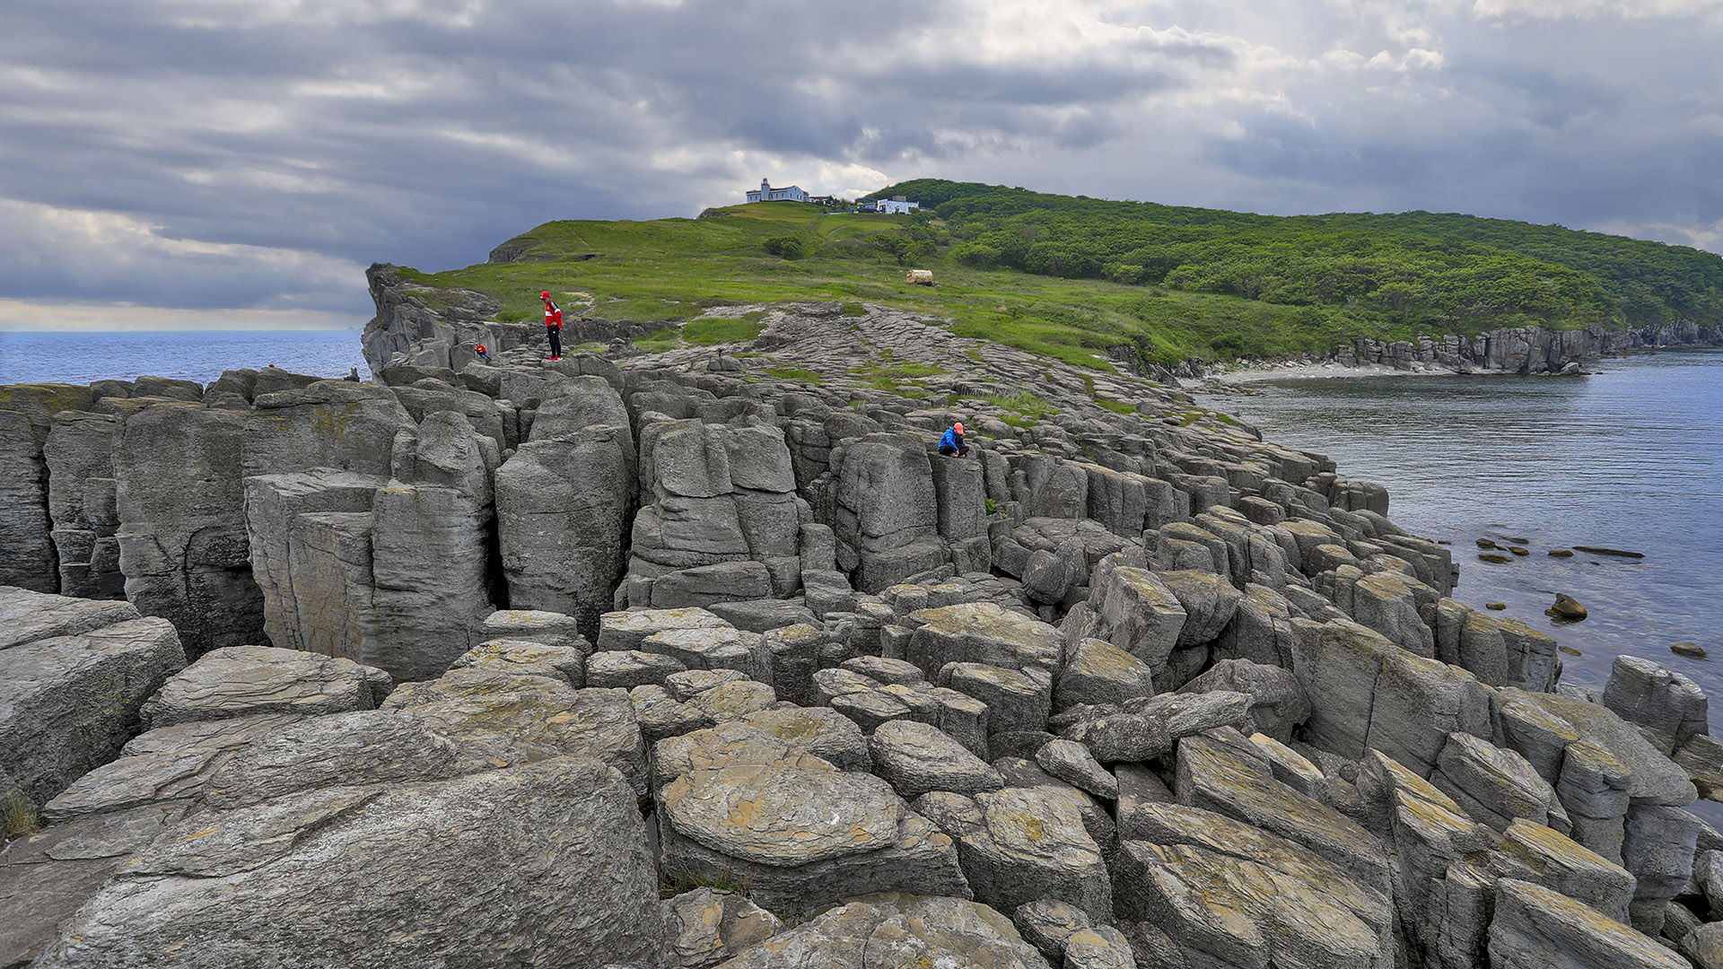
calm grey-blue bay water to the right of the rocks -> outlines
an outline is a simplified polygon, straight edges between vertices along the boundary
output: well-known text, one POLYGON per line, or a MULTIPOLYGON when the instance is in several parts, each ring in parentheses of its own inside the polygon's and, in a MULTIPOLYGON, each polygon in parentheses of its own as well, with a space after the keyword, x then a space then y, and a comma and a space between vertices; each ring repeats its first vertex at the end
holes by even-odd
MULTIPOLYGON (((1452 541, 1454 597, 1544 629, 1564 683, 1602 686, 1618 653, 1652 659, 1723 705, 1723 350, 1597 360, 1585 378, 1332 378, 1204 395, 1263 436, 1335 459, 1389 488, 1389 516, 1452 541), (1525 545, 1508 564, 1475 540, 1525 545), (1613 559, 1551 548, 1644 552, 1613 559), (1564 591, 1590 616, 1558 624, 1564 591), (1711 660, 1680 657, 1694 641, 1711 660)), ((1723 717, 1713 714, 1713 722, 1723 717)))

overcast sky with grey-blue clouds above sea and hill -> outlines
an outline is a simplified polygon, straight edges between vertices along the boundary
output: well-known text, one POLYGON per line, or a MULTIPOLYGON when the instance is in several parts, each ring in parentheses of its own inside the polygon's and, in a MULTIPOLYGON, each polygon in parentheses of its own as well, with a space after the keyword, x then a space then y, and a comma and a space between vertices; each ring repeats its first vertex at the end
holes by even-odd
POLYGON ((360 326, 372 260, 770 178, 1723 252, 1723 0, 3 0, 0 328, 360 326))

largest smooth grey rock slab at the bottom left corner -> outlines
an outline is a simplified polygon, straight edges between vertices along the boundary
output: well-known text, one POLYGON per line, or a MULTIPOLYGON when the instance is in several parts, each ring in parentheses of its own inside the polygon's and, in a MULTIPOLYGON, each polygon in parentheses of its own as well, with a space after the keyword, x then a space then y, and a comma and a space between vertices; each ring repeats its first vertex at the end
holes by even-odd
POLYGON ((639 824, 634 791, 579 757, 203 814, 102 888, 38 966, 651 962, 639 824))

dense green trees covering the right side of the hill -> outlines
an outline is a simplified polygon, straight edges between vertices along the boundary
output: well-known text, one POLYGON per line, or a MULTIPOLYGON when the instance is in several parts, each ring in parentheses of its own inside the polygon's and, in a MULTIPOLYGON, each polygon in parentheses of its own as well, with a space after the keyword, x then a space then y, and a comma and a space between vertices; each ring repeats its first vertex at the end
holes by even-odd
POLYGON ((1723 324, 1723 259, 1687 247, 1471 216, 1254 216, 918 179, 930 210, 877 240, 899 262, 1347 307, 1401 324, 1723 324), (942 221, 932 224, 932 217, 942 221))

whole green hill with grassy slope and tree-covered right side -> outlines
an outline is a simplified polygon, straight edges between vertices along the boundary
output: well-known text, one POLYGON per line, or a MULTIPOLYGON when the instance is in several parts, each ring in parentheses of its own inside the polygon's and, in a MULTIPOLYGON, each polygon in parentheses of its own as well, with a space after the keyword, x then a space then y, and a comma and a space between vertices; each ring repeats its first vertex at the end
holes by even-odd
POLYGON ((672 329, 717 305, 867 300, 1103 369, 1117 345, 1172 362, 1497 326, 1723 324, 1716 255, 1559 226, 1273 217, 936 179, 879 195, 927 210, 756 203, 700 219, 546 222, 505 243, 510 262, 407 278, 491 293, 505 321, 536 317, 543 290, 586 316, 667 321, 643 340, 651 348, 756 331, 750 317, 672 329), (932 269, 937 284, 906 284, 905 267, 932 269))

